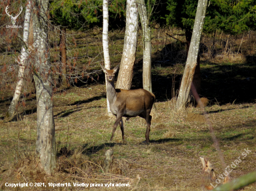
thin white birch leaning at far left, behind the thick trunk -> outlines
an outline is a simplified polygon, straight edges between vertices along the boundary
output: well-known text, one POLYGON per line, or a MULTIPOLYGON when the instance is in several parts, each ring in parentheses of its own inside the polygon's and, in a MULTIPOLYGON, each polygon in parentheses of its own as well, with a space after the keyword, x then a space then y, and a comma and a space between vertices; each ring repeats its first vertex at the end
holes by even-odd
POLYGON ((15 92, 13 95, 13 100, 12 100, 11 105, 6 114, 6 116, 10 117, 10 118, 13 118, 13 115, 14 115, 14 112, 16 109, 16 105, 18 104, 19 99, 20 99, 20 92, 22 89, 25 68, 27 65, 28 54, 27 54, 26 46, 28 46, 30 14, 31 14, 31 2, 28 1, 27 6, 26 6, 25 19, 24 19, 24 30, 23 30, 23 41, 25 42, 26 45, 22 46, 20 61, 15 59, 15 61, 19 64, 19 72, 18 72, 18 83, 16 85, 16 89, 15 89, 15 92))

